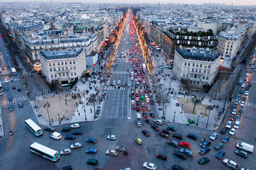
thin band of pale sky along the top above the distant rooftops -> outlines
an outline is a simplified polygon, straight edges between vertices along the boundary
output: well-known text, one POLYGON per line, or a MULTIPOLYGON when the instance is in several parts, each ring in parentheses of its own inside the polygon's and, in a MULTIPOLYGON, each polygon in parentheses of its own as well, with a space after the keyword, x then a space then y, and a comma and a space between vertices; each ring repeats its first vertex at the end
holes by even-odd
MULTIPOLYGON (((22 0, 22 2, 29 2, 31 0, 22 0)), ((39 0, 35 0, 38 2, 42 2, 39 0)), ((92 1, 70 1, 70 0, 43 0, 44 2, 66 2, 66 3, 92 3, 92 1)), ((0 2, 3 3, 10 3, 10 2, 20 2, 20 1, 6 1, 6 0, 1 0, 0 2)), ((159 0, 159 1, 153 1, 153 0, 140 0, 140 1, 134 1, 134 0, 127 0, 127 1, 122 1, 122 0, 110 0, 110 1, 104 1, 104 0, 97 0, 97 1, 93 1, 93 3, 125 3, 125 4, 167 4, 167 3, 173 3, 173 4, 205 4, 205 3, 212 3, 212 4, 225 4, 225 5, 235 5, 235 6, 249 6, 249 5, 256 5, 256 2, 253 0, 245 0, 245 1, 232 1, 232 0, 225 0, 225 1, 221 1, 221 0, 217 0, 217 1, 203 1, 203 0, 194 0, 194 1, 186 1, 186 0, 181 0, 181 1, 168 1, 168 0, 159 0)))

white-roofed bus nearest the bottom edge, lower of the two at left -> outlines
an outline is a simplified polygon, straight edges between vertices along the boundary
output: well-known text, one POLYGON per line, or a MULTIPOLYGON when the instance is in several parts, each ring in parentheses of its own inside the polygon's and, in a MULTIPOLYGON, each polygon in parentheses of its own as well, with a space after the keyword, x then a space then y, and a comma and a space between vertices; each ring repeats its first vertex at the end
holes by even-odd
POLYGON ((47 158, 54 162, 60 158, 60 153, 58 151, 52 150, 51 148, 48 148, 47 146, 39 143, 33 143, 29 146, 29 148, 33 153, 36 153, 37 155, 40 155, 41 157, 47 158))

